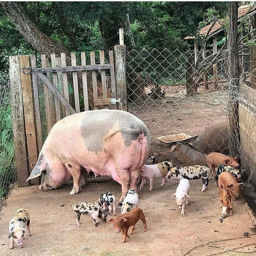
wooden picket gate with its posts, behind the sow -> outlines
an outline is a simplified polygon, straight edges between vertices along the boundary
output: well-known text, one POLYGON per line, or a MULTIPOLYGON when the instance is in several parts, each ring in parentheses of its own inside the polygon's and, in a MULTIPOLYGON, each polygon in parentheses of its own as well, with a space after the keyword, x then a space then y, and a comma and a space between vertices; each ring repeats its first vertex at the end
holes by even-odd
MULTIPOLYGON (((75 53, 71 53, 70 57, 64 53, 59 57, 51 54, 51 67, 46 56, 41 55, 40 68, 37 67, 35 55, 10 56, 12 120, 19 186, 29 186, 26 179, 37 162, 44 142, 43 111, 47 134, 61 118, 79 113, 81 104, 84 105, 82 111, 99 108, 127 111, 125 51, 125 45, 115 46, 115 67, 113 51, 109 51, 109 63, 105 63, 104 52, 100 51, 98 64, 95 52, 90 52, 90 65, 86 65, 86 54, 81 53, 82 65, 79 66, 76 65, 75 53), (71 66, 66 65, 66 60, 71 66), (109 73, 108 77, 106 72, 109 73), (41 93, 39 85, 43 86, 41 93)), ((38 184, 39 178, 30 183, 38 184)))

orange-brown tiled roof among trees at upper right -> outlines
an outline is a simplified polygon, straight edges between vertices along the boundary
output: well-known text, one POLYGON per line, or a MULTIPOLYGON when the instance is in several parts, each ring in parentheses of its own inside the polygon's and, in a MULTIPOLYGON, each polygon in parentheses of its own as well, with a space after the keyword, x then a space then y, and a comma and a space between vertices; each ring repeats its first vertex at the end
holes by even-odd
MULTIPOLYGON (((238 8, 238 19, 242 18, 247 13, 251 13, 255 10, 256 10, 256 5, 253 5, 253 6, 251 6, 251 5, 242 5, 242 6, 240 6, 238 8)), ((228 18, 228 16, 227 16, 227 18, 228 18)), ((212 27, 212 24, 209 24, 209 25, 201 28, 199 30, 199 34, 205 37, 207 35, 209 29, 211 29, 211 27, 212 27, 211 31, 208 34, 208 37, 210 37, 210 36, 212 36, 212 35, 214 35, 214 34, 223 30, 223 28, 222 28, 223 22, 224 22, 224 19, 216 21, 215 24, 213 25, 213 27, 212 27)), ((189 40, 189 39, 195 39, 195 37, 187 36, 187 37, 184 38, 184 40, 189 40)))

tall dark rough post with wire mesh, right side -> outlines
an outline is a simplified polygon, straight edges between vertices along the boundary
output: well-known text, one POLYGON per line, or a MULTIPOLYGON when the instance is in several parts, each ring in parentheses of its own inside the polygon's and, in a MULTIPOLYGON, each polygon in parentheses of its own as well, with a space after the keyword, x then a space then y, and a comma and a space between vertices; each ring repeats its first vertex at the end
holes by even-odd
POLYGON ((237 47, 237 19, 238 19, 238 2, 229 2, 229 25, 228 25, 228 52, 229 52, 229 71, 230 71, 230 88, 229 88, 229 154, 237 156, 240 145, 238 101, 236 97, 239 94, 239 59, 237 47))

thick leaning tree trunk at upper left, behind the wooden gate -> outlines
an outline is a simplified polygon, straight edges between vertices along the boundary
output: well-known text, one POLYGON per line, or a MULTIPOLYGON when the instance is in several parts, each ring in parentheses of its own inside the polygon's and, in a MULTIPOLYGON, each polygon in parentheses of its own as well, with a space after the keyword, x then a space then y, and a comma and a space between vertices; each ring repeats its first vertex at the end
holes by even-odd
MULTIPOLYGON (((71 57, 70 51, 63 46, 62 44, 53 41, 47 35, 42 33, 29 19, 26 12, 19 4, 19 2, 0 2, 0 6, 3 8, 4 12, 12 20, 14 25, 17 27, 19 32, 23 37, 32 45, 34 50, 38 53, 45 54, 48 59, 51 59, 51 53, 55 53, 60 56, 61 53, 66 53, 66 63, 67 66, 71 66, 71 57)), ((80 91, 83 94, 82 90, 82 74, 77 72, 80 91)), ((71 82, 72 80, 70 80, 71 82)), ((92 80, 91 76, 87 75, 87 84, 88 84, 88 101, 91 109, 94 109, 93 101, 93 89, 92 89, 92 80)), ((98 94, 102 95, 102 86, 101 82, 97 81, 98 85, 98 94)), ((110 92, 108 91, 108 97, 111 97, 110 92)))

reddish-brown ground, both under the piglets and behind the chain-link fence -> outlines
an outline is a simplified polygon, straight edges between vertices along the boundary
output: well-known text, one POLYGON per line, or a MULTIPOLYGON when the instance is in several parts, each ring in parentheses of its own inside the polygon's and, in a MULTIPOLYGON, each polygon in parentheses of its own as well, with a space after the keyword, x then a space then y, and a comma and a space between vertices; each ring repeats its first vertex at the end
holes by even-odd
MULTIPOLYGON (((182 159, 177 159, 175 153, 170 153, 170 148, 161 145, 155 137, 179 132, 195 136, 208 125, 224 120, 225 93, 201 92, 191 99, 182 96, 184 91, 179 86, 166 89, 167 100, 156 101, 154 105, 150 102, 132 105, 129 112, 141 118, 150 130, 150 153, 157 155, 158 162, 172 160, 174 165, 181 166, 182 159)), ((191 199, 183 216, 175 199, 170 199, 177 187, 174 181, 168 180, 160 187, 161 179, 156 179, 151 192, 148 185, 144 186, 138 191, 139 207, 144 211, 148 230, 143 232, 143 224, 139 221, 134 234, 124 244, 121 243, 122 234, 115 233, 108 221, 94 227, 90 216, 82 215, 81 227, 76 226, 71 205, 79 201, 94 203, 105 191, 111 191, 117 200, 120 198, 118 183, 95 181, 99 179, 90 180, 77 195, 69 195, 70 182, 46 192, 39 191, 38 186, 14 188, 0 211, 0 255, 255 255, 256 230, 250 209, 245 208, 241 199, 234 201, 233 216, 221 223, 219 189, 213 180, 204 193, 200 191, 201 180, 190 181, 191 199), (20 207, 30 213, 32 236, 25 236, 23 249, 16 245, 9 250, 9 221, 20 207), (212 246, 202 245, 200 241, 212 246)), ((119 209, 117 214, 120 214, 119 209)))

